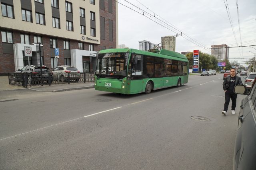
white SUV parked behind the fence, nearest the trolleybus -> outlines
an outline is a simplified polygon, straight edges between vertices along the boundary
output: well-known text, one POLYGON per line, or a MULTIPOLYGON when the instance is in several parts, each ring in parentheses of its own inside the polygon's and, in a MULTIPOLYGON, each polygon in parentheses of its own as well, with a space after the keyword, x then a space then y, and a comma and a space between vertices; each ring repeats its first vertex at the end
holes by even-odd
POLYGON ((78 82, 79 79, 81 78, 80 71, 74 66, 67 66, 67 65, 58 66, 54 68, 52 72, 54 73, 53 74, 54 80, 59 79, 62 82, 65 82, 66 80, 68 80, 68 73, 70 73, 69 74, 70 80, 76 80, 78 82))

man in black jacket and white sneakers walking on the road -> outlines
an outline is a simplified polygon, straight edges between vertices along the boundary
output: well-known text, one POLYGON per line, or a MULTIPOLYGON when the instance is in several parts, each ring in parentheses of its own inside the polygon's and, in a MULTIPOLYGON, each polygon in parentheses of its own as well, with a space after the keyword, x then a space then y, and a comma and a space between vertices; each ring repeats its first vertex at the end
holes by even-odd
POLYGON ((223 90, 225 91, 225 104, 224 104, 224 110, 221 113, 224 115, 227 115, 228 105, 231 98, 232 100, 231 113, 235 114, 237 94, 234 93, 234 87, 235 85, 243 85, 241 78, 236 75, 235 68, 230 68, 230 76, 227 76, 224 79, 224 82, 222 85, 223 85, 223 90))

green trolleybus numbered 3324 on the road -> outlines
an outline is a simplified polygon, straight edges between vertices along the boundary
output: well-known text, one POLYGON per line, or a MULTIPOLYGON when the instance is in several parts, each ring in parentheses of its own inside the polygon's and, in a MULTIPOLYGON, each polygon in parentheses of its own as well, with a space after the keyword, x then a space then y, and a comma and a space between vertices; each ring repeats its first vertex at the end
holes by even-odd
POLYGON ((122 94, 150 93, 188 82, 185 55, 162 49, 106 49, 98 54, 95 90, 122 94))

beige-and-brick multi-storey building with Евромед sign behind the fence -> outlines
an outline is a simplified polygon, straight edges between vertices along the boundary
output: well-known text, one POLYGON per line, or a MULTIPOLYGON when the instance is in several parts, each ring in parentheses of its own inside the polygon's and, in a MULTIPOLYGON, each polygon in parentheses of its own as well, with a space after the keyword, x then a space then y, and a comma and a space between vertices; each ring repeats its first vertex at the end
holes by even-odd
POLYGON ((112 0, 1 0, 0 73, 41 61, 49 68, 93 70, 101 49, 116 48, 117 3, 112 0), (24 56, 32 47, 32 57, 24 56), (59 49, 55 59, 54 49, 59 49))

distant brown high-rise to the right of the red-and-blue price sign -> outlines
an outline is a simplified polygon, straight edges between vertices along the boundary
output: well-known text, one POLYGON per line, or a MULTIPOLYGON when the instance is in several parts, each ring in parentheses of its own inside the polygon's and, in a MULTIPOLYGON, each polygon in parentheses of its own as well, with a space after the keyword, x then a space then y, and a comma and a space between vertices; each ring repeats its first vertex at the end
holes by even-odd
POLYGON ((224 59, 228 60, 229 57, 229 48, 228 45, 212 45, 212 55, 216 57, 218 61, 222 61, 224 59))

